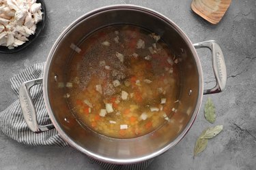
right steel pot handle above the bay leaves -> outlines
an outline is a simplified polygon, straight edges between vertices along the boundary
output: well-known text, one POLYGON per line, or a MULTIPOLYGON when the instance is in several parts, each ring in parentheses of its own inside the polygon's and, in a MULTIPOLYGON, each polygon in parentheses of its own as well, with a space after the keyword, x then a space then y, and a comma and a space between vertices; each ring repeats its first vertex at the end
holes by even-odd
POLYGON ((216 79, 216 86, 203 90, 203 95, 222 92, 227 84, 227 69, 221 47, 214 40, 193 44, 197 48, 209 48, 212 51, 212 68, 216 79))

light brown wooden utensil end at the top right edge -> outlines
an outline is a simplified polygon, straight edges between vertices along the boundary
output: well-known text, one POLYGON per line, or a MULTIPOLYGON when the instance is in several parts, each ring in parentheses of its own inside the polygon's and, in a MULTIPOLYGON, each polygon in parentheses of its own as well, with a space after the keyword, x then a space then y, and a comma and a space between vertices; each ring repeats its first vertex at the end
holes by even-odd
POLYGON ((231 0, 193 0, 191 9, 212 24, 217 24, 229 8, 231 0))

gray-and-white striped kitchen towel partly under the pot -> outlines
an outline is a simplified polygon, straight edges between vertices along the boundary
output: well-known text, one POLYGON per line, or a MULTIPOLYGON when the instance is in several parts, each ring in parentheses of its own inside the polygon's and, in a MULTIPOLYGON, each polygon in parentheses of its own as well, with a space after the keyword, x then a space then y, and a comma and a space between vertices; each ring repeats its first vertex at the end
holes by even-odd
MULTIPOLYGON (((38 63, 31 67, 28 67, 18 75, 15 75, 10 79, 11 86, 16 95, 20 84, 29 80, 42 78, 45 63, 38 63)), ((42 125, 51 124, 46 107, 44 106, 44 98, 42 92, 42 84, 33 86, 30 89, 31 97, 35 105, 35 111, 38 116, 38 123, 42 125)), ((33 133, 27 127, 23 114, 20 108, 19 100, 17 99, 12 105, 3 110, 0 113, 0 129, 5 135, 12 139, 25 143, 31 146, 68 146, 68 143, 64 141, 56 129, 46 131, 44 133, 33 133)), ((91 158, 92 159, 92 158, 91 158)), ((94 160, 94 159, 92 159, 94 160)), ((146 169, 152 160, 147 160, 143 163, 137 163, 133 165, 113 165, 109 163, 102 163, 98 160, 94 160, 96 163, 101 165, 104 169, 146 169)))

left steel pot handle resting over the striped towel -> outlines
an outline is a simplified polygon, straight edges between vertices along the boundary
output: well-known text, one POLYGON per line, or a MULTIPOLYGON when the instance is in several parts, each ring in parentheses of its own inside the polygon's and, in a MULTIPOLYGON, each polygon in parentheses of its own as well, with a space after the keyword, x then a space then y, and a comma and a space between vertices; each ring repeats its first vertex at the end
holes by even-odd
POLYGON ((30 88, 37 84, 42 84, 42 78, 30 80, 21 84, 19 89, 19 98, 20 107, 23 111, 23 117, 25 119, 25 122, 27 123, 27 126, 29 126, 29 129, 34 133, 41 133, 54 129, 54 126, 53 124, 47 124, 44 126, 38 124, 35 106, 33 105, 33 101, 29 93, 30 88))

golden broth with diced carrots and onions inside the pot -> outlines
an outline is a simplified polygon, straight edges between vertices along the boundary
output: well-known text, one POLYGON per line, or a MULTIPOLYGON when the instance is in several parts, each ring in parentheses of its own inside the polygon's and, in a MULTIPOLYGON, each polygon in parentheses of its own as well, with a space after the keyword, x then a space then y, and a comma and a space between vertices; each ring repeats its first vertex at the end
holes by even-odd
POLYGON ((70 47, 65 97, 83 126, 107 137, 133 138, 177 112, 178 60, 160 36, 115 25, 70 47))

